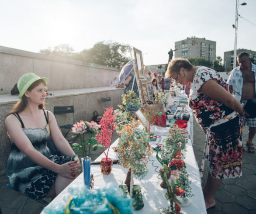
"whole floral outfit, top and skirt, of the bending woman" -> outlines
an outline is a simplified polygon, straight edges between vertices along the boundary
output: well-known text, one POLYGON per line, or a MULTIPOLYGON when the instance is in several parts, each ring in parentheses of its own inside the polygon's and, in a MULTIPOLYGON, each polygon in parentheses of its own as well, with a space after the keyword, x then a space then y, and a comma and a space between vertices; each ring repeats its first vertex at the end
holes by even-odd
POLYGON ((228 86, 218 72, 200 66, 194 75, 189 94, 189 106, 197 123, 206 133, 204 159, 209 161, 209 173, 218 179, 242 176, 242 122, 238 113, 201 93, 201 86, 210 79, 217 80, 225 90, 228 86))

